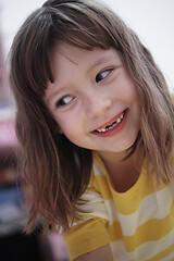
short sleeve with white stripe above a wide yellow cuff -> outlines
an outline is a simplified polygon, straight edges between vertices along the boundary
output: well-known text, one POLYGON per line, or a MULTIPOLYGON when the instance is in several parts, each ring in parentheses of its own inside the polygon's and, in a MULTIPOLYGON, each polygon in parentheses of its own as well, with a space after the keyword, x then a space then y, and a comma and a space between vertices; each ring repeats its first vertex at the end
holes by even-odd
POLYGON ((77 207, 85 212, 82 213, 82 221, 74 224, 69 234, 63 235, 71 260, 110 241, 107 232, 108 214, 101 195, 87 190, 77 207))

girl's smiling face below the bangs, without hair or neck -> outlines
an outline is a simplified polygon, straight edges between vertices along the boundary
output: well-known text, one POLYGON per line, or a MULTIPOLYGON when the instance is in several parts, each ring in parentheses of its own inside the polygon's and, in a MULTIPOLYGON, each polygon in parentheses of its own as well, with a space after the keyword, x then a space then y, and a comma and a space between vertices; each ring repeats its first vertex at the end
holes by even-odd
POLYGON ((49 83, 45 102, 61 132, 98 152, 128 149, 139 132, 140 108, 119 51, 57 42, 50 61, 54 83, 49 83))

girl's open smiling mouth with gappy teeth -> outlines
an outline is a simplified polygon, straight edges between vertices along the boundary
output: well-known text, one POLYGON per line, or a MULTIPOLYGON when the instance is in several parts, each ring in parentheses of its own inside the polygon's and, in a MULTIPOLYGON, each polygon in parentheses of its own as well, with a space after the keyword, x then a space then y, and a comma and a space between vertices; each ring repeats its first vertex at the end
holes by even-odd
POLYGON ((128 109, 124 110, 122 113, 120 113, 117 116, 112 119, 110 122, 95 129, 94 133, 107 133, 109 130, 114 129, 123 121, 127 110, 128 109))

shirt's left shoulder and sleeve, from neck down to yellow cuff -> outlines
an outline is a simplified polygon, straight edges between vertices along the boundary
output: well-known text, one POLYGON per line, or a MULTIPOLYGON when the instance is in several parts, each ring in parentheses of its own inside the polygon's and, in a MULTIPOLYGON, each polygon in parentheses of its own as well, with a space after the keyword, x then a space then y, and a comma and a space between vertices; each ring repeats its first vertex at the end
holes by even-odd
POLYGON ((73 224, 69 234, 63 235, 72 260, 110 241, 105 228, 109 216, 102 197, 105 185, 101 181, 105 174, 100 163, 94 156, 90 183, 76 203, 80 221, 73 224))

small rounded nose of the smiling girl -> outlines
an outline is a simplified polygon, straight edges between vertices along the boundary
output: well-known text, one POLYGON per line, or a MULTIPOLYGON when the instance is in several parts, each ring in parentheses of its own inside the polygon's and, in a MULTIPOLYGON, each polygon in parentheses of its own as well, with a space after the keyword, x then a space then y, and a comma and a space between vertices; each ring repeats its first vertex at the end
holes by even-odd
POLYGON ((103 115, 112 105, 112 98, 109 95, 94 92, 87 102, 87 113, 89 117, 103 115))

